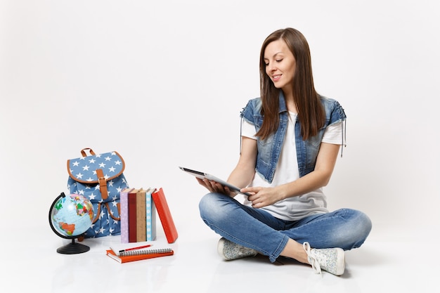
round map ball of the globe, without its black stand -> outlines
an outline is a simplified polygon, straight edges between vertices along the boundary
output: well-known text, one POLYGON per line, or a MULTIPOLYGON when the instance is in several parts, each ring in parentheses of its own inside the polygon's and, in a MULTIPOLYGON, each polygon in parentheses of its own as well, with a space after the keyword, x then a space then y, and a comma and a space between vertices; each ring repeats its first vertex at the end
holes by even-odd
POLYGON ((66 195, 53 204, 53 228, 63 236, 75 237, 86 232, 93 221, 93 205, 82 195, 66 195))

